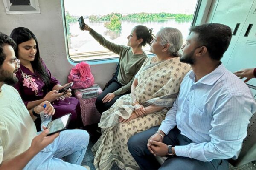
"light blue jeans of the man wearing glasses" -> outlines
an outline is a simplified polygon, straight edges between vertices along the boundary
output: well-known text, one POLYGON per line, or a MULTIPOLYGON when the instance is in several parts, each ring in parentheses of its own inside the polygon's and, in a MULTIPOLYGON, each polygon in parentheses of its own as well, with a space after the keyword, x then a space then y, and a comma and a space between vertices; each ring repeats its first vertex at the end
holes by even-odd
POLYGON ((23 170, 86 170, 81 163, 88 143, 89 134, 86 130, 64 130, 23 170))

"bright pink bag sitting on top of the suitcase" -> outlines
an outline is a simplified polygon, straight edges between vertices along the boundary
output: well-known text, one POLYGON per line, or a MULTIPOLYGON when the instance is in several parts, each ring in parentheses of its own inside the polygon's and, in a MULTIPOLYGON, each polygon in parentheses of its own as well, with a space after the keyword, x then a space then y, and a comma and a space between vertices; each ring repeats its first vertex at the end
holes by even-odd
POLYGON ((94 77, 91 73, 90 65, 87 62, 80 62, 71 69, 67 77, 67 82, 74 82, 72 88, 89 88, 94 83, 94 77))

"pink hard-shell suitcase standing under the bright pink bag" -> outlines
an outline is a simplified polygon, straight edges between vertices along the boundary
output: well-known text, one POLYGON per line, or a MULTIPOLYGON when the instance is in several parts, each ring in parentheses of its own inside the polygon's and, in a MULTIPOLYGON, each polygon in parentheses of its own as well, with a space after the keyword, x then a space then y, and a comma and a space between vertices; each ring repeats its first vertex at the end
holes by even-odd
POLYGON ((102 89, 97 84, 90 88, 76 89, 74 94, 80 102, 81 116, 84 126, 98 123, 101 114, 97 111, 95 101, 102 89))

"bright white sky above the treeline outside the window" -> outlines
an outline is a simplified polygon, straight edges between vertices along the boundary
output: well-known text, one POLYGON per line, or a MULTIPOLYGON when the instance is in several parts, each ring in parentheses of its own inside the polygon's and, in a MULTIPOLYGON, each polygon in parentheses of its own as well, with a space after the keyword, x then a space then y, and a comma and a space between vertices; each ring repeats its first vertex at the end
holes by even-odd
POLYGON ((105 15, 111 12, 193 14, 197 0, 64 0, 71 15, 105 15))

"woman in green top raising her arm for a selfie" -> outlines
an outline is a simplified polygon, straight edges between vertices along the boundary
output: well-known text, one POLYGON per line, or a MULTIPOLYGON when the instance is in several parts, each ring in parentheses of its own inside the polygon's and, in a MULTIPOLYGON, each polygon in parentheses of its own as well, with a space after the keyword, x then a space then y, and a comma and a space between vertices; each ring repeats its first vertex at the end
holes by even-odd
POLYGON ((119 97, 130 93, 134 76, 148 57, 142 46, 150 44, 153 40, 152 29, 148 29, 146 26, 135 26, 127 37, 127 46, 109 42, 87 24, 84 24, 81 29, 89 31, 90 35, 100 45, 119 55, 119 68, 116 71, 118 72, 117 79, 111 79, 113 81, 108 82, 108 87, 96 100, 96 108, 99 113, 102 113, 108 110, 119 97))

